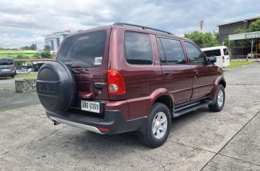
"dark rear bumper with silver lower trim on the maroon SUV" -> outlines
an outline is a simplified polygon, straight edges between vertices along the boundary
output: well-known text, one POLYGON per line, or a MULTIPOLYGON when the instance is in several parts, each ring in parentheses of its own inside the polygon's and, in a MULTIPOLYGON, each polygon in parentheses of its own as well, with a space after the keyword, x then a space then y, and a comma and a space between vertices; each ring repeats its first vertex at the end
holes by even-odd
POLYGON ((123 114, 121 114, 121 111, 118 110, 105 111, 104 118, 96 118, 93 116, 70 112, 53 114, 46 111, 46 114, 52 121, 65 123, 69 126, 83 128, 88 131, 102 134, 117 134, 137 131, 141 128, 143 123, 146 122, 146 117, 126 121, 123 114))

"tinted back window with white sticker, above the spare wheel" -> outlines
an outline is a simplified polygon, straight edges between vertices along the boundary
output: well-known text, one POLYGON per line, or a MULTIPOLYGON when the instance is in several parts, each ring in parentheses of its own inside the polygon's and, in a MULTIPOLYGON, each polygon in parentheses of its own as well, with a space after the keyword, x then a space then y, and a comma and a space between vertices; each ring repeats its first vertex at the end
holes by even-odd
POLYGON ((99 67, 104 60, 107 32, 97 31, 65 39, 57 60, 70 67, 99 67))

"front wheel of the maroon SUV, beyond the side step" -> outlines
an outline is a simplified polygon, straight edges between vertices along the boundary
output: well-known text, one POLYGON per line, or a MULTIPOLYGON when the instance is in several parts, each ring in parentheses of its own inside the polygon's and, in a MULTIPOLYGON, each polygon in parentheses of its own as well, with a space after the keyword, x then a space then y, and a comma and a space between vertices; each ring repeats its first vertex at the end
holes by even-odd
POLYGON ((209 109, 210 111, 222 111, 224 107, 224 101, 225 101, 225 92, 224 92, 224 87, 222 84, 219 84, 217 86, 217 91, 215 94, 215 104, 210 104, 209 109))

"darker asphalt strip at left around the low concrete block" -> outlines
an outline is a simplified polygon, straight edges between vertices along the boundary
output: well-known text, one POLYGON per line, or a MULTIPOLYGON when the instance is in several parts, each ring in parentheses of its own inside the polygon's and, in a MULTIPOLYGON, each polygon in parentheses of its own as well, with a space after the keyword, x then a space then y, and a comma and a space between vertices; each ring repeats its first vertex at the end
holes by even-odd
POLYGON ((0 111, 40 104, 36 92, 16 93, 14 82, 14 78, 0 78, 0 111))

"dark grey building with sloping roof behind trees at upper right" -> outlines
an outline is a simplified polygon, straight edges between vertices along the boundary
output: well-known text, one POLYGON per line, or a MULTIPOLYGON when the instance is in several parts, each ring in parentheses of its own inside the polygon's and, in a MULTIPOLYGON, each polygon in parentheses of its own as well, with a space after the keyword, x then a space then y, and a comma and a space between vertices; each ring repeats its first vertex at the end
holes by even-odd
POLYGON ((223 42, 223 40, 225 38, 228 38, 229 35, 234 34, 234 31, 237 28, 241 28, 241 29, 247 29, 249 27, 249 25, 256 21, 257 18, 259 18, 260 16, 257 17, 253 17, 253 18, 247 18, 247 19, 242 19, 242 20, 238 20, 238 21, 232 21, 229 23, 222 23, 220 25, 217 25, 219 27, 219 34, 220 34, 220 42, 223 42))

